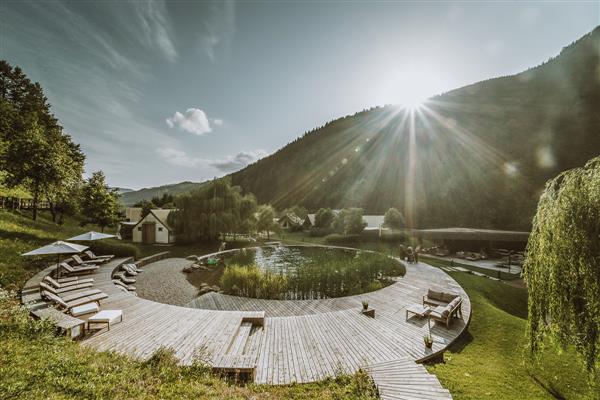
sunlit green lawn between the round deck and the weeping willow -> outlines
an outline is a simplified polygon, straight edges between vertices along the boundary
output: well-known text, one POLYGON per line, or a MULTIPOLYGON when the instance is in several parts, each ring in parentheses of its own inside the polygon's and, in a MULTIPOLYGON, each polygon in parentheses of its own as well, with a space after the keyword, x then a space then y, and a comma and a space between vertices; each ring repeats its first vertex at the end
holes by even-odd
POLYGON ((428 369, 455 399, 600 397, 573 351, 559 353, 549 345, 539 363, 530 361, 524 335, 525 289, 461 272, 450 275, 471 299, 471 324, 446 352, 445 363, 428 369))

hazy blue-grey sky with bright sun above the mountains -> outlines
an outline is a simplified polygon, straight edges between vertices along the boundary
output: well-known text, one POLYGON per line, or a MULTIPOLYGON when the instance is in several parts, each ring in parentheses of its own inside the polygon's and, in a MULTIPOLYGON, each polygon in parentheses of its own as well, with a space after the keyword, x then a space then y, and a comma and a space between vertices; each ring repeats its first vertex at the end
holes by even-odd
POLYGON ((0 58, 41 83, 115 187, 200 182, 325 122, 556 56, 600 1, 0 1, 0 58))

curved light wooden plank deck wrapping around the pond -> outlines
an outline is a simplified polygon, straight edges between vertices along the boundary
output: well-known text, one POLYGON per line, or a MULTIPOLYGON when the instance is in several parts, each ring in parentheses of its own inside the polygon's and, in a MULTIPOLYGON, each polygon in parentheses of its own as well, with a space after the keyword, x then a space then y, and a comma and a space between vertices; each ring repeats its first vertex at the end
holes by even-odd
MULTIPOLYGON (((463 289, 445 272, 424 263, 409 264, 406 275, 393 285, 358 296, 277 301, 211 294, 188 308, 119 290, 111 274, 124 261, 113 260, 90 275, 94 288, 109 295, 101 308, 122 310, 123 322, 86 336, 83 346, 141 359, 170 347, 184 364, 201 353, 215 368, 250 372, 257 383, 313 382, 398 360, 414 366, 443 352, 467 328, 471 315, 463 289), (434 344, 426 349, 427 319, 405 320, 404 309, 421 303, 430 287, 458 293, 463 318, 454 319, 450 329, 432 322, 434 344), (375 318, 361 314, 363 299, 375 309, 375 318)), ((28 282, 30 293, 50 270, 28 282)))

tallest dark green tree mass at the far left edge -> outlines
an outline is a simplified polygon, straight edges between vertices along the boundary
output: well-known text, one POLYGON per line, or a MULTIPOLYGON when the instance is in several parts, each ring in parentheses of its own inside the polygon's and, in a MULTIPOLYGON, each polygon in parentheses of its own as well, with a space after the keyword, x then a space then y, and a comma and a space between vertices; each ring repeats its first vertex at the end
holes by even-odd
POLYGON ((25 187, 33 197, 33 219, 40 196, 50 203, 54 221, 75 208, 85 156, 50 112, 39 83, 19 67, 0 60, 0 170, 9 187, 25 187))

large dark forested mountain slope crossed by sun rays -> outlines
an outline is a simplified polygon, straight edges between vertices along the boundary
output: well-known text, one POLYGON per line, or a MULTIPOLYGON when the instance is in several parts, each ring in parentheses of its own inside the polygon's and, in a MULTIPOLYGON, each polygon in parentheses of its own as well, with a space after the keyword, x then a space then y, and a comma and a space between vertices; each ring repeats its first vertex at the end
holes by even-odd
POLYGON ((528 229, 545 182, 600 154, 600 27, 522 73, 376 107, 231 175, 259 202, 404 211, 414 226, 528 229))

